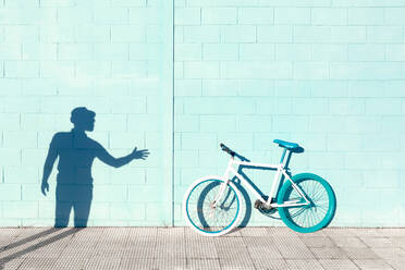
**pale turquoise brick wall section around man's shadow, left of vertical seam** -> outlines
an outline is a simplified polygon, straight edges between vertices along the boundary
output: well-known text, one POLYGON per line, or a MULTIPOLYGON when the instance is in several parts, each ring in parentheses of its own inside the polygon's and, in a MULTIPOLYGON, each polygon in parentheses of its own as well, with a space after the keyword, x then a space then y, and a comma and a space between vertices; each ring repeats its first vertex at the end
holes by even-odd
POLYGON ((0 226, 53 225, 58 160, 45 197, 45 158, 81 106, 96 112, 88 136, 114 157, 135 146, 151 152, 120 169, 95 161, 88 225, 172 223, 172 78, 163 73, 172 10, 146 0, 1 1, 0 226))

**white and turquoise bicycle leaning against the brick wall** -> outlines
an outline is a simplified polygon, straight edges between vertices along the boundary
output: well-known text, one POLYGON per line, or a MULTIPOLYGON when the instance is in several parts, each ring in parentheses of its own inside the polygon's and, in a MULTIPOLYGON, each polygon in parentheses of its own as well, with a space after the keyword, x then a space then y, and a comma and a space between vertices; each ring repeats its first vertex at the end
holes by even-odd
POLYGON ((299 233, 312 233, 327 226, 333 219, 336 198, 332 187, 322 177, 312 173, 300 173, 290 176, 287 163, 292 152, 303 149, 298 144, 274 139, 273 143, 284 148, 279 164, 254 163, 235 160, 235 151, 223 144, 220 147, 231 156, 223 176, 209 175, 195 181, 186 191, 183 199, 183 212, 188 225, 201 235, 220 236, 237 224, 242 214, 241 192, 231 173, 246 186, 257 200, 259 210, 278 210, 281 220, 292 230, 299 233), (287 161, 284 167, 286 151, 287 161), (242 176, 234 164, 248 168, 277 170, 269 196, 242 176), (280 188, 282 183, 284 184, 280 188))

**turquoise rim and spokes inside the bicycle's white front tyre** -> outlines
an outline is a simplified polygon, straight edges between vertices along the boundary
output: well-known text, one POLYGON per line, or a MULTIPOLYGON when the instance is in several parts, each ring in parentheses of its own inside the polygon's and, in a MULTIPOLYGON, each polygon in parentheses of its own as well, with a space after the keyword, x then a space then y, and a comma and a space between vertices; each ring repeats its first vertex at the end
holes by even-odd
POLYGON ((186 200, 186 212, 191 224, 204 233, 218 234, 233 226, 240 213, 240 199, 231 185, 211 207, 222 180, 205 180, 193 187, 186 200))

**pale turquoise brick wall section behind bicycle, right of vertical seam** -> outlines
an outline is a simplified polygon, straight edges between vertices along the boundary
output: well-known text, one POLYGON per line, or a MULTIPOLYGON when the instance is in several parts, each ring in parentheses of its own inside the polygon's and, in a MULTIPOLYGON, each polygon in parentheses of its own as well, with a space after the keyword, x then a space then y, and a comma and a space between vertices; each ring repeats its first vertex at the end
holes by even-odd
MULTIPOLYGON (((283 138, 305 148, 293 173, 334 187, 332 225, 404 225, 404 1, 175 4, 175 224, 187 185, 223 173, 220 142, 274 163, 283 138)), ((270 173, 247 175, 270 189, 270 173)))

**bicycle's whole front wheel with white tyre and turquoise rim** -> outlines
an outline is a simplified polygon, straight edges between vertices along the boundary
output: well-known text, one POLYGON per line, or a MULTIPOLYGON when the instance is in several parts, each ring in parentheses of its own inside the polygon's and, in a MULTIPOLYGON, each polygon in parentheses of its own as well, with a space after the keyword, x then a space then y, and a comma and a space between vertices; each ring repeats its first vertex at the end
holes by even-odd
POLYGON ((183 212, 197 233, 220 236, 230 232, 241 218, 241 194, 232 182, 226 184, 219 176, 204 177, 185 193, 183 212), (220 191, 223 193, 218 197, 220 191))

